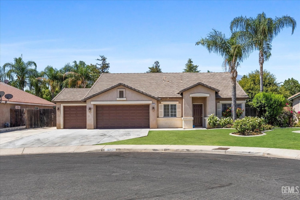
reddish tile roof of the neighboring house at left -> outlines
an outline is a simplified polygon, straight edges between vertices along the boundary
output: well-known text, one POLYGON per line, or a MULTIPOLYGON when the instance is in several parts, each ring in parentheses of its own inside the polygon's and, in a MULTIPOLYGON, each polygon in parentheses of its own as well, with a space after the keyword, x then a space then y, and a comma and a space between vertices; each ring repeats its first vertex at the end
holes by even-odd
MULTIPOLYGON (((55 103, 37 97, 23 90, 19 90, 18 88, 15 88, 3 82, 0 82, 0 91, 4 91, 5 94, 12 94, 13 98, 9 100, 11 102, 46 104, 49 106, 56 106, 55 103)), ((2 102, 3 101, 7 101, 7 99, 4 96, 2 97, 2 102)))

